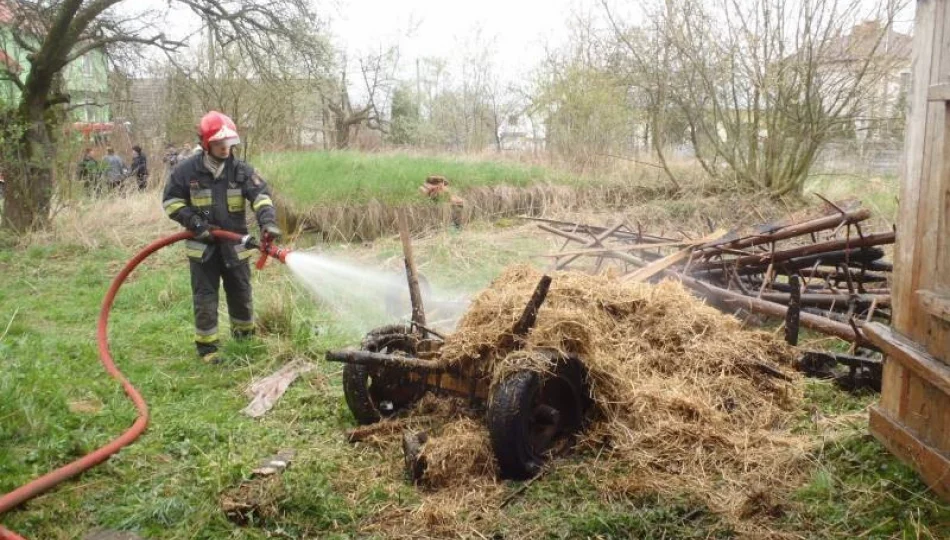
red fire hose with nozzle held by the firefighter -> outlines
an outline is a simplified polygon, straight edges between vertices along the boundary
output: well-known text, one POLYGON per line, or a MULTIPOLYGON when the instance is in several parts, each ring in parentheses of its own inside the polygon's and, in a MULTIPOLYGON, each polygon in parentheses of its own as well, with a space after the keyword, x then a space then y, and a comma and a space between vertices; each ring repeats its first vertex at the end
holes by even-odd
MULTIPOLYGON (((214 230, 211 231, 211 234, 214 235, 214 237, 218 240, 240 242, 249 248, 259 249, 262 253, 262 259, 267 256, 271 256, 278 259, 280 262, 285 262, 287 254, 289 253, 289 251, 286 249, 280 249, 274 246, 266 238, 263 243, 258 244, 250 236, 242 236, 229 231, 214 230)), ((176 242, 187 240, 193 237, 194 234, 190 232, 180 232, 166 238, 161 238, 145 246, 142 251, 139 251, 135 257, 132 257, 132 259, 130 259, 129 262, 125 264, 125 267, 122 268, 122 271, 119 272, 115 279, 112 280, 112 284, 109 286, 109 291, 106 293, 106 297, 102 300, 102 309, 99 311, 98 330, 96 334, 96 339, 99 344, 99 360, 102 362, 102 365, 105 366, 106 371, 109 372, 109 375, 122 384, 122 388, 125 390, 125 393, 128 394, 129 399, 132 400, 132 402, 135 404, 135 408, 138 409, 139 416, 135 419, 132 427, 127 429, 125 433, 102 448, 90 452, 89 454, 86 454, 72 463, 66 464, 54 471, 48 472, 45 475, 31 481, 30 483, 22 485, 10 493, 0 497, 0 515, 3 515, 4 513, 23 504, 33 497, 36 497, 37 495, 52 489, 57 484, 68 480, 83 471, 91 469, 92 467, 95 467, 96 465, 109 459, 109 456, 115 454, 123 447, 132 444, 132 442, 134 442, 135 439, 137 439, 139 435, 145 431, 145 427, 148 426, 148 406, 145 404, 145 400, 142 399, 142 395, 139 394, 138 390, 132 386, 132 383, 130 383, 115 366, 115 362, 112 360, 112 354, 109 353, 109 312, 112 310, 112 303, 115 300, 116 294, 119 292, 119 288, 122 287, 122 284, 125 282, 126 278, 129 277, 129 274, 135 270, 135 267, 148 258, 152 253, 155 253, 156 251, 176 242)), ((22 536, 19 536, 0 525, 0 540, 24 539, 22 536)))

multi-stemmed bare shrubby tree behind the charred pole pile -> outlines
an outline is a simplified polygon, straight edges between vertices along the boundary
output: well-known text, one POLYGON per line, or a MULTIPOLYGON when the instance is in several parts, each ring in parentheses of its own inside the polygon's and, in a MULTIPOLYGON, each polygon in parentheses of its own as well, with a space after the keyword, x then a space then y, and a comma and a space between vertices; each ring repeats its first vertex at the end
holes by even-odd
MULTIPOLYGON (((780 196, 801 190, 822 145, 892 69, 883 44, 901 4, 664 0, 647 6, 647 28, 603 6, 653 132, 676 111, 710 176, 780 196), (880 19, 856 25, 869 14, 880 19)), ((662 137, 654 143, 665 165, 662 137)))

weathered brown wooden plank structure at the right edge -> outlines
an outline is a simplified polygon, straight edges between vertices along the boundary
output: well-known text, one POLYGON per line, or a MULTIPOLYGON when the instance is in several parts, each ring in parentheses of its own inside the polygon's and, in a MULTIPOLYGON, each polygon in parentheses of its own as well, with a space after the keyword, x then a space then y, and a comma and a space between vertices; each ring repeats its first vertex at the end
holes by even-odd
MULTIPOLYGON (((928 101, 928 89, 948 82, 950 0, 918 0, 894 255, 893 325, 898 335, 893 338, 902 335, 918 344, 918 352, 929 356, 934 373, 941 375, 950 361, 950 319, 945 316, 950 313, 950 102, 928 101)), ((885 332, 879 334, 889 339, 885 332)), ((900 347, 888 352, 893 354, 884 365, 871 431, 932 488, 950 497, 950 471, 945 470, 950 393, 921 371, 920 362, 928 359, 914 363, 900 347)))

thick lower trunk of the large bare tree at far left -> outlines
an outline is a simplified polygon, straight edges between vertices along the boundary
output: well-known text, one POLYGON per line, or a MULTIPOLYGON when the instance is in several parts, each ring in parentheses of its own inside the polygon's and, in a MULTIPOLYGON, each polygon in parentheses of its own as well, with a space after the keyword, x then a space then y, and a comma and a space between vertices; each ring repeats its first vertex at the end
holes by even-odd
POLYGON ((5 156, 5 161, 12 166, 4 168, 7 186, 3 226, 25 232, 49 225, 56 149, 42 100, 24 99, 18 116, 26 129, 13 138, 9 149, 12 156, 5 156))

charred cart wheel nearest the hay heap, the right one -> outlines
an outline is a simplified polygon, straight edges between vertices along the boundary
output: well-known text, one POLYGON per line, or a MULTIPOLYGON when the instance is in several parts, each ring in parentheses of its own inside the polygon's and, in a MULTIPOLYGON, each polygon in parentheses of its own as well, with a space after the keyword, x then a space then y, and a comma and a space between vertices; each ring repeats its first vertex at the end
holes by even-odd
POLYGON ((551 373, 518 371, 498 383, 488 431, 501 475, 537 474, 551 453, 570 445, 590 403, 586 370, 576 359, 558 358, 551 373))

